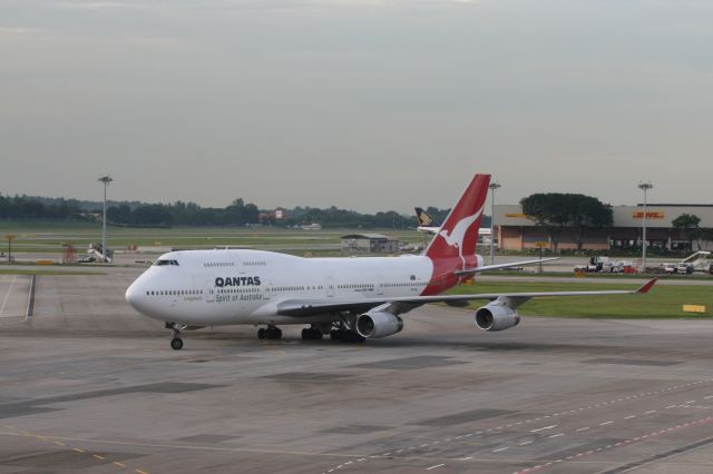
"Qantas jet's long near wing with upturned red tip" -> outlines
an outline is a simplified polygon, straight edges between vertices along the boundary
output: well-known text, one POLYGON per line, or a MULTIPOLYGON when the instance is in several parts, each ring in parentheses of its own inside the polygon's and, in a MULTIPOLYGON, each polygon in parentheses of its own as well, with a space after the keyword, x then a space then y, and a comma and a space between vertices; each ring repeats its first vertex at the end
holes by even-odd
POLYGON ((428 304, 446 303, 458 304, 475 299, 511 298, 520 304, 530 298, 546 296, 604 296, 604 295, 632 295, 646 294, 654 286, 657 278, 652 278, 636 289, 605 289, 595 292, 541 292, 541 293, 481 293, 473 295, 433 295, 433 296, 401 296, 394 298, 354 298, 354 299, 286 299, 277 303, 277 314, 283 316, 314 316, 325 313, 339 312, 368 312, 377 306, 388 304, 393 314, 408 313, 409 310, 428 304))

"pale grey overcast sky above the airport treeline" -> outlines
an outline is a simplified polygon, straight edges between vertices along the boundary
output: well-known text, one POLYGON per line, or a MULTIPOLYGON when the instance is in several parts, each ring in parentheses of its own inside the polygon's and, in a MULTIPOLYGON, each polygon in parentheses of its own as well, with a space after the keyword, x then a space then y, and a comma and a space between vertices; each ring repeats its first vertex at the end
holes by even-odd
POLYGON ((2 0, 0 192, 713 203, 710 0, 2 0))

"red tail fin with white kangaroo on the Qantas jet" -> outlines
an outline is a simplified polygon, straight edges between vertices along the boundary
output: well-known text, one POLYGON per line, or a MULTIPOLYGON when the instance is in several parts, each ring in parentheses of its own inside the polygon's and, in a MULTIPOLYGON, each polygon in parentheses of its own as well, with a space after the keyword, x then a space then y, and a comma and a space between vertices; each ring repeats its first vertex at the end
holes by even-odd
POLYGON ((472 178, 429 244, 426 256, 431 259, 460 257, 463 264, 473 259, 489 184, 490 175, 472 178))

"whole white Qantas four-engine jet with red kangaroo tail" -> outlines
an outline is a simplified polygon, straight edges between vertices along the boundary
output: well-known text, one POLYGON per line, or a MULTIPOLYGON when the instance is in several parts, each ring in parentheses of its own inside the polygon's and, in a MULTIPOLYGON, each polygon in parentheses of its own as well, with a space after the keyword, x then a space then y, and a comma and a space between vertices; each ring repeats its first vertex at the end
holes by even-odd
POLYGON ((277 325, 305 325, 303 339, 364 342, 403 329, 401 315, 428 303, 466 306, 482 330, 517 326, 518 306, 543 296, 645 294, 656 279, 633 290, 443 295, 480 271, 541 260, 484 265, 476 255, 490 175, 476 175, 422 255, 373 258, 301 258, 264 250, 180 250, 162 255, 126 290, 138 313, 163 320, 170 347, 180 332, 218 325, 260 326, 261 339, 280 339, 277 325))

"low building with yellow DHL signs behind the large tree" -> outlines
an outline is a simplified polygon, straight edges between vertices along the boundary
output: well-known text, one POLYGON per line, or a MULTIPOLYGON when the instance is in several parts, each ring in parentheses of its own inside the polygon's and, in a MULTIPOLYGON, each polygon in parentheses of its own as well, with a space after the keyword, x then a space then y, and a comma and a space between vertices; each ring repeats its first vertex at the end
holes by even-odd
MULTIPOLYGON (((644 206, 612 206, 614 224, 609 228, 588 228, 583 239, 584 250, 641 247, 644 206)), ((648 204, 646 206, 646 241, 648 247, 670 250, 711 250, 713 243, 691 241, 687 233, 672 221, 683 214, 701 219, 701 228, 713 228, 713 205, 648 204)), ((495 225, 498 247, 504 250, 536 249, 541 243, 550 247, 550 239, 522 214, 520 205, 496 205, 495 225)), ((558 249, 577 248, 577 230, 566 228, 559 237, 558 249)))

